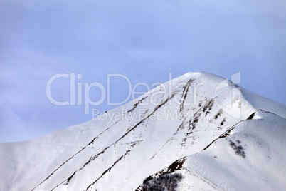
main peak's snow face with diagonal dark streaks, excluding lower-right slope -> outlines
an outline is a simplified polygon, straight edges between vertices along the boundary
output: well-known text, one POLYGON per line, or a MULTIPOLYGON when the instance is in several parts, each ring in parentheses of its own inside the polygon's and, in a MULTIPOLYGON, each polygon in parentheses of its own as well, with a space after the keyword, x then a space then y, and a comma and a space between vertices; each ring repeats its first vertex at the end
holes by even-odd
MULTIPOLYGON (((233 136, 233 129, 243 127, 248 120, 259 120, 260 115, 265 114, 263 108, 278 113, 280 121, 285 120, 285 105, 250 93, 219 76, 203 72, 186 73, 153 88, 134 102, 107 111, 117 113, 125 110, 119 120, 108 119, 107 123, 107 120, 98 118, 34 140, 1 143, 0 155, 3 160, 0 167, 5 173, 0 175, 0 189, 136 190, 145 178, 180 158, 196 160, 196 153, 201 156, 204 155, 201 153, 209 152, 207 146, 212 148, 221 140, 226 142, 225 138, 233 136), (180 83, 181 86, 177 86, 180 83), (220 84, 224 88, 216 91, 220 84), (149 104, 152 101, 156 104, 149 104), (144 113, 140 113, 140 110, 144 110, 144 113), (176 118, 167 118, 168 111, 175 113, 176 118), (158 113, 164 114, 162 120, 152 120, 158 113), (227 131, 228 135, 220 138, 227 131), (85 181, 82 181, 83 177, 85 181)), ((267 115, 273 115, 271 113, 267 115)), ((281 131, 281 134, 285 133, 285 125, 282 125, 281 131)), ((242 145, 231 141, 228 149, 235 148, 235 152, 243 153, 243 148, 239 149, 242 145), (231 145, 233 143, 236 145, 231 145)), ((204 181, 207 176, 202 172, 199 175, 201 179, 194 177, 194 173, 188 174, 187 170, 192 167, 188 167, 187 163, 184 162, 186 167, 181 180, 185 185, 181 184, 179 190, 188 186, 208 187, 204 183, 188 185, 186 177, 192 177, 197 182, 218 182, 210 178, 204 181)), ((197 164, 200 165, 199 162, 197 164)), ((282 165, 282 169, 285 169, 285 165, 282 165)), ((235 173, 231 175, 235 176, 235 173)), ((218 189, 223 184, 216 183, 211 187, 218 189)), ((223 188, 233 189, 229 185, 223 188)))

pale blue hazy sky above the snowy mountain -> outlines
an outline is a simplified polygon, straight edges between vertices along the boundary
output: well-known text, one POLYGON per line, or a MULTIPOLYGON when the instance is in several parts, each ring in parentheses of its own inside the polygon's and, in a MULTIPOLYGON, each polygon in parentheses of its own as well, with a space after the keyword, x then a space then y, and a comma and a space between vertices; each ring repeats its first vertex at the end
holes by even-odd
POLYGON ((85 83, 102 85, 87 91, 94 102, 103 98, 90 106, 100 112, 120 105, 107 104, 100 87, 110 84, 110 102, 120 103, 128 98, 127 79, 152 88, 169 81, 169 73, 189 71, 225 78, 240 72, 238 85, 286 104, 285 13, 280 0, 1 0, 0 142, 92 119, 84 104, 71 104, 73 75, 76 92, 82 86, 85 93, 85 83), (108 83, 109 74, 121 76, 108 83), (47 83, 57 75, 51 96, 69 105, 47 98, 47 83))

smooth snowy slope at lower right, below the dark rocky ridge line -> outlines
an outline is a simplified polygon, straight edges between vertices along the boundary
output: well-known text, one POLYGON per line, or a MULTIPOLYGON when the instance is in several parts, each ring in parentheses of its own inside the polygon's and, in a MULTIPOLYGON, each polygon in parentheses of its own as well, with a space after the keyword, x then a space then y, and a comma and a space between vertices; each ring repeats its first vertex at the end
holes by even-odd
POLYGON ((286 120, 272 113, 263 115, 244 121, 231 136, 188 156, 184 168, 190 175, 211 182, 216 190, 283 190, 286 120), (229 140, 243 146, 245 158, 235 154, 229 140))

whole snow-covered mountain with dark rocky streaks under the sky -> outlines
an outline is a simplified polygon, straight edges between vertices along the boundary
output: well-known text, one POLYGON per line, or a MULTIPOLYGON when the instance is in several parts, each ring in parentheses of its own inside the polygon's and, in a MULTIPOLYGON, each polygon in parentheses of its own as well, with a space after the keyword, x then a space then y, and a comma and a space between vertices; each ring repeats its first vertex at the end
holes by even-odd
POLYGON ((95 120, 0 143, 0 190, 285 190, 286 106, 186 73, 95 120))

